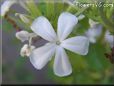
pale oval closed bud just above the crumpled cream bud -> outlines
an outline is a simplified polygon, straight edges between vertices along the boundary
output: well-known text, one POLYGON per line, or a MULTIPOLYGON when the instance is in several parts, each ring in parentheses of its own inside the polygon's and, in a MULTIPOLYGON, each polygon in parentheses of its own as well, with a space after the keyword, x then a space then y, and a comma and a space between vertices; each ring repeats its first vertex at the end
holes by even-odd
POLYGON ((21 40, 21 42, 29 40, 30 37, 35 37, 35 36, 37 36, 35 33, 29 33, 24 30, 16 32, 16 37, 17 39, 21 40))

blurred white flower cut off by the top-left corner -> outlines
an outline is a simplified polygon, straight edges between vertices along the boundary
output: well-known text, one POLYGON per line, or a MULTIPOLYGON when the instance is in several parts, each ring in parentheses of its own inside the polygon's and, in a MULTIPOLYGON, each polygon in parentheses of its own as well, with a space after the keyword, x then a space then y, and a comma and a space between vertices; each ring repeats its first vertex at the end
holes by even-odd
POLYGON ((1 16, 4 17, 5 14, 9 11, 10 7, 16 3, 15 0, 6 0, 2 5, 1 5, 1 16))

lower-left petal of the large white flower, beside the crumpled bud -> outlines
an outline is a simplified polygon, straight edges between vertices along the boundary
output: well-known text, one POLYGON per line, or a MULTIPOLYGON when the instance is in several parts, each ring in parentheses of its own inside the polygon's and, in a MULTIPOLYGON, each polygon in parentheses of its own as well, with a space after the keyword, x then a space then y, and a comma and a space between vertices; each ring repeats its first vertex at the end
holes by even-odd
POLYGON ((30 55, 30 61, 33 66, 40 70, 42 69, 52 58, 55 52, 54 44, 46 44, 40 48, 35 49, 30 55))

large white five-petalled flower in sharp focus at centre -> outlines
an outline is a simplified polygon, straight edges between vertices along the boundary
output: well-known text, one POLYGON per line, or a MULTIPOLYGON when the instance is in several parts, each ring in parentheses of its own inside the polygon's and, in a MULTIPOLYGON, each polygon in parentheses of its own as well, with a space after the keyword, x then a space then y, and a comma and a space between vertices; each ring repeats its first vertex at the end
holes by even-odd
POLYGON ((80 55, 86 55, 89 46, 89 40, 84 36, 66 39, 77 22, 76 16, 67 12, 62 13, 58 19, 56 34, 47 18, 41 16, 35 19, 31 29, 49 41, 46 45, 34 49, 30 55, 30 61, 36 69, 42 69, 55 54, 54 73, 61 77, 72 73, 72 67, 64 48, 80 55))

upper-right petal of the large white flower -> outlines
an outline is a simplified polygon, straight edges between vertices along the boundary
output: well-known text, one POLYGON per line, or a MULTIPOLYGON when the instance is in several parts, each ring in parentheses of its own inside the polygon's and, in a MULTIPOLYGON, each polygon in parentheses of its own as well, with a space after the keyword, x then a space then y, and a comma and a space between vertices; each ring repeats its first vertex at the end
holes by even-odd
POLYGON ((57 34, 60 41, 64 40, 72 32, 77 22, 76 16, 68 12, 64 12, 59 16, 57 34))

